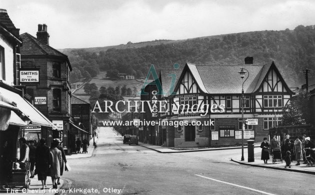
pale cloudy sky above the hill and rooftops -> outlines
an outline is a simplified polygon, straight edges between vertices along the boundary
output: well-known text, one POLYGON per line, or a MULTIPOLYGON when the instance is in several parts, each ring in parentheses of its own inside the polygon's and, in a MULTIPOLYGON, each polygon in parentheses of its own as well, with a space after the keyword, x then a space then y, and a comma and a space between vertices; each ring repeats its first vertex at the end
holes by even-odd
POLYGON ((186 39, 315 24, 314 0, 1 0, 20 33, 54 48, 186 39))

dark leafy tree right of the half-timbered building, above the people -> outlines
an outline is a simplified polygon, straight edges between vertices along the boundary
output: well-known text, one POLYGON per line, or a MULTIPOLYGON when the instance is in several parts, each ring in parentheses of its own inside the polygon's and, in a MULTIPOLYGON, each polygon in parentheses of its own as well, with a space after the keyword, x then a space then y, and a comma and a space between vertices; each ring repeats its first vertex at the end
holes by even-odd
POLYGON ((309 92, 301 91, 282 109, 282 125, 310 123, 309 92))

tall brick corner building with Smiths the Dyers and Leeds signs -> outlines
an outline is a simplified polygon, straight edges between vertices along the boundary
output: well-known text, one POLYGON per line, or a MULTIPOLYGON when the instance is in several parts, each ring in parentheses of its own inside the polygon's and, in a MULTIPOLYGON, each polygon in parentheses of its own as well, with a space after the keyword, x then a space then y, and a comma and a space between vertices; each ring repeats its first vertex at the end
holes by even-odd
POLYGON ((20 35, 21 68, 19 82, 26 85, 35 107, 56 126, 53 131, 41 131, 50 144, 60 138, 67 149, 67 132, 72 122, 70 71, 67 55, 49 46, 47 25, 38 24, 37 37, 20 35), (22 74, 23 73, 23 74, 22 74))

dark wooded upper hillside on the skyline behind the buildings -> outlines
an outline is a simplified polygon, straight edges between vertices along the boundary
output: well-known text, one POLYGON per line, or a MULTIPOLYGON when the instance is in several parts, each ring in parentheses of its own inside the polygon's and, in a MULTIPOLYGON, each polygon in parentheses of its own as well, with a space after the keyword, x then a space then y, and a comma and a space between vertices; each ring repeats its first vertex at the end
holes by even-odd
POLYGON ((279 68, 289 86, 303 84, 302 70, 311 69, 309 84, 315 83, 312 67, 315 64, 314 26, 299 25, 293 30, 265 30, 191 38, 186 40, 155 40, 116 46, 60 49, 69 56, 78 75, 93 77, 98 70, 115 70, 145 76, 148 67, 172 68, 186 61, 208 64, 241 64, 245 56, 254 63, 271 63, 279 68), (79 75, 81 73, 81 75, 79 75))

